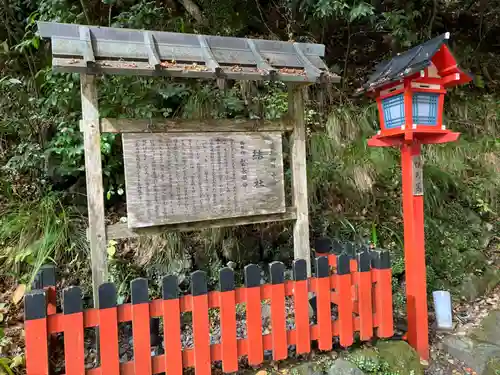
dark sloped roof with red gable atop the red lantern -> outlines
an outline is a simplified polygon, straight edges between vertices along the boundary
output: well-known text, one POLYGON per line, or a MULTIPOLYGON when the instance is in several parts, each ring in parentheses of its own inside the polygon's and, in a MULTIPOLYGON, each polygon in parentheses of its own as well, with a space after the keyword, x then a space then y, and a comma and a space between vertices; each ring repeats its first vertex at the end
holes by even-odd
MULTIPOLYGON (((409 51, 398 54, 392 58, 392 60, 382 61, 375 67, 375 71, 370 75, 368 81, 358 91, 375 90, 380 86, 385 86, 392 82, 397 82, 402 78, 419 73, 421 70, 429 67, 431 63, 435 62, 433 61, 433 57, 440 51, 443 51, 443 53, 447 55, 445 59, 445 64, 447 66, 444 67, 449 70, 447 73, 463 73, 456 67, 456 60, 447 46, 449 37, 450 33, 442 34, 413 47, 409 51)), ((469 80, 470 77, 466 75, 463 82, 460 83, 465 83, 469 80)))

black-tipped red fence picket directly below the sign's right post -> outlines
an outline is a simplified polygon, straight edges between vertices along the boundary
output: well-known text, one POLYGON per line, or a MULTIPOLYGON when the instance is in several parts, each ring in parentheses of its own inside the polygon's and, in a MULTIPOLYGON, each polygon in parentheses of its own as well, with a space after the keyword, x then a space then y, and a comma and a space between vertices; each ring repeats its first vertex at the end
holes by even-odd
POLYGON ((295 310, 295 345, 297 354, 311 351, 309 329, 309 293, 307 263, 304 259, 293 261, 293 305, 295 310))

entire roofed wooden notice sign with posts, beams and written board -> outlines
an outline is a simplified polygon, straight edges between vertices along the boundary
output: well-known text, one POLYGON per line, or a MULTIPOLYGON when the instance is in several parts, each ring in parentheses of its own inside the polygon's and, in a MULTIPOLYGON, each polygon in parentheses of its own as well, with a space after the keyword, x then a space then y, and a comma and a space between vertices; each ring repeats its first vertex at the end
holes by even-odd
POLYGON ((38 22, 52 68, 81 74, 82 121, 94 307, 107 281, 107 241, 223 226, 294 220, 294 255, 311 272, 304 85, 339 82, 325 46, 261 39, 38 22), (281 81, 280 121, 140 120, 99 117, 96 74, 281 81), (285 206, 283 132, 291 132, 292 205, 285 206), (106 226, 100 134, 121 133, 128 222, 106 226), (161 134, 156 134, 161 133, 161 134))

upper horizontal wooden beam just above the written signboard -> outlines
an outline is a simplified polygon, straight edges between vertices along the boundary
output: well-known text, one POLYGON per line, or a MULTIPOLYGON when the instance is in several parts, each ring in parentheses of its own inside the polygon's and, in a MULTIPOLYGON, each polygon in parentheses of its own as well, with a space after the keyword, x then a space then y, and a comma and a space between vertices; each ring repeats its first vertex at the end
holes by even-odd
POLYGON ((142 132, 252 132, 252 131, 291 131, 291 122, 257 121, 248 119, 220 120, 167 120, 167 119, 127 119, 103 118, 101 131, 103 133, 142 133, 142 132))

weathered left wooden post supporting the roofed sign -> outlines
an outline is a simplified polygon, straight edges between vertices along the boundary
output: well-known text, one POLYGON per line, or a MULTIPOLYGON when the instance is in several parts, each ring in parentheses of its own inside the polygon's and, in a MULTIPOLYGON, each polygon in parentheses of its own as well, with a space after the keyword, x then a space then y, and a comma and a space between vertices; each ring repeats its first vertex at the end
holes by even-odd
POLYGON ((90 257, 94 308, 99 307, 99 286, 107 281, 106 226, 102 183, 101 133, 96 77, 81 74, 83 145, 87 180, 90 257))

